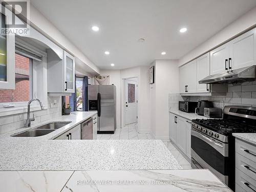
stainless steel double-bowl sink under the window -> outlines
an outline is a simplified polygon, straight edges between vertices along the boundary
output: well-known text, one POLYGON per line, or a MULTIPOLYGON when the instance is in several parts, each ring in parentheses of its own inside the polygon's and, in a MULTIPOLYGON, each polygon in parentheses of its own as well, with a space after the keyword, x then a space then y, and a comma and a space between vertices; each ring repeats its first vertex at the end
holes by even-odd
POLYGON ((41 126, 38 126, 36 129, 28 130, 26 132, 13 135, 12 137, 39 137, 43 135, 47 135, 49 133, 54 132, 55 130, 59 129, 62 126, 65 126, 67 124, 71 123, 69 122, 51 122, 48 124, 44 124, 41 126))

